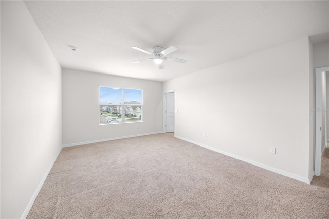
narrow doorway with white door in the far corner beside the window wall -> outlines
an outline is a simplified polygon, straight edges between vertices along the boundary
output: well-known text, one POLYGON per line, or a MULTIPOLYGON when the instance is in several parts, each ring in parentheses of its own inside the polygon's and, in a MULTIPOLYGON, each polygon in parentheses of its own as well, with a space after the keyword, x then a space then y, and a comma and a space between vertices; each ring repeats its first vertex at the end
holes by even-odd
POLYGON ((175 92, 163 93, 163 132, 175 131, 175 92))

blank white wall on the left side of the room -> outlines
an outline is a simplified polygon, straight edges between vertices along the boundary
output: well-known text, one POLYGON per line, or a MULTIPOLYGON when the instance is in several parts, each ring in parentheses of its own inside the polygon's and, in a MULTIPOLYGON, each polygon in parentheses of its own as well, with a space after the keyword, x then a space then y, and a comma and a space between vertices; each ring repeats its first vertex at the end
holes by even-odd
POLYGON ((22 1, 1 1, 1 218, 20 218, 61 148, 61 67, 22 1))

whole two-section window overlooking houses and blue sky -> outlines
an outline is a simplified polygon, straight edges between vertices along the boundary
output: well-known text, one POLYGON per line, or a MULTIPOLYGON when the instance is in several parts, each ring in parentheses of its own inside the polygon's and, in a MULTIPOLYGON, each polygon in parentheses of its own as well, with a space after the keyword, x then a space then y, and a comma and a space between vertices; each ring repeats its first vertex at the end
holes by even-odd
POLYGON ((99 87, 100 124, 143 121, 143 90, 99 87))

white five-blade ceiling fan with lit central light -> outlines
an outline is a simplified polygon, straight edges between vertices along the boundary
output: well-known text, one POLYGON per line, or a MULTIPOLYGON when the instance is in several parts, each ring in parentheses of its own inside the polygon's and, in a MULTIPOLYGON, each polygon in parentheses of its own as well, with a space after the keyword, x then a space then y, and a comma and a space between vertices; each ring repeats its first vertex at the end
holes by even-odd
POLYGON ((161 46, 155 46, 152 49, 152 52, 148 52, 145 51, 144 49, 140 49, 138 47, 132 47, 133 49, 136 49, 138 51, 150 54, 151 56, 153 56, 153 58, 148 58, 148 59, 142 59, 142 60, 138 60, 135 61, 134 63, 139 63, 145 60, 153 60, 153 62, 159 66, 159 69, 163 69, 165 68, 165 66, 163 66, 163 60, 168 60, 168 61, 173 61, 173 62, 179 62, 179 63, 186 63, 185 59, 177 59, 177 58, 173 58, 173 57, 168 57, 167 55, 178 50, 176 47, 174 46, 170 46, 169 48, 165 49, 161 46))

